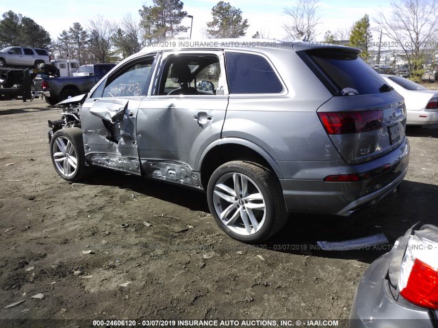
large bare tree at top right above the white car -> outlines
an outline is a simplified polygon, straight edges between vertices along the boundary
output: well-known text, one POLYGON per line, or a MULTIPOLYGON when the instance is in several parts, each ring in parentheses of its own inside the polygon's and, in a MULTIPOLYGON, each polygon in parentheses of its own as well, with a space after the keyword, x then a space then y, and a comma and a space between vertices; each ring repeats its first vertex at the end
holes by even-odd
POLYGON ((420 76, 424 51, 438 33, 438 0, 399 0, 391 12, 379 12, 375 22, 384 36, 394 40, 407 57, 409 67, 420 76))

